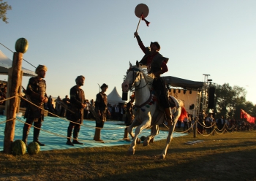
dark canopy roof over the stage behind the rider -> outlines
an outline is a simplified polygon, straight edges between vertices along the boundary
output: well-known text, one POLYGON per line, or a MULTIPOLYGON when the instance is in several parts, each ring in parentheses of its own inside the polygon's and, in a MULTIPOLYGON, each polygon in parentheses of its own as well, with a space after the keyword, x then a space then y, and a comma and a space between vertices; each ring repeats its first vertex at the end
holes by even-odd
POLYGON ((173 87, 180 87, 187 90, 201 90, 203 88, 203 82, 195 82, 192 80, 184 80, 177 77, 165 76, 162 77, 165 79, 167 85, 171 85, 173 87))

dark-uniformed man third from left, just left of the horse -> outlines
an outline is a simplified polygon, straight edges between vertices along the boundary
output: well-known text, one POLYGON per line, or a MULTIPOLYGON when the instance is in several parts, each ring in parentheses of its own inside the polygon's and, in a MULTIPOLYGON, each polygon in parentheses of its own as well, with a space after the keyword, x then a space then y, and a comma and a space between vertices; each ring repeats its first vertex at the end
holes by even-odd
POLYGON ((94 140, 104 143, 102 139, 100 139, 100 132, 104 126, 105 121, 107 120, 107 115, 110 115, 110 112, 108 110, 108 97, 105 94, 108 89, 108 85, 104 83, 100 88, 102 89, 102 91, 97 94, 95 101, 95 112, 100 119, 96 121, 94 140))

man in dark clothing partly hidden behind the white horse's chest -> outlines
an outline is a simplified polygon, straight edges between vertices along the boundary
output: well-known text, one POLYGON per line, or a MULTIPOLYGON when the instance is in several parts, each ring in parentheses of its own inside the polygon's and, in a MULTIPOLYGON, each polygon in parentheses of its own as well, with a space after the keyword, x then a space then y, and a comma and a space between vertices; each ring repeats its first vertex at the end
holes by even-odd
MULTIPOLYGON (((133 109, 132 109, 133 103, 135 101, 135 95, 132 94, 132 96, 130 96, 129 99, 131 100, 127 103, 127 118, 125 119, 125 126, 127 127, 132 124, 132 121, 135 118, 135 115, 133 114, 133 109)), ((129 141, 127 127, 124 129, 124 140, 129 141)))

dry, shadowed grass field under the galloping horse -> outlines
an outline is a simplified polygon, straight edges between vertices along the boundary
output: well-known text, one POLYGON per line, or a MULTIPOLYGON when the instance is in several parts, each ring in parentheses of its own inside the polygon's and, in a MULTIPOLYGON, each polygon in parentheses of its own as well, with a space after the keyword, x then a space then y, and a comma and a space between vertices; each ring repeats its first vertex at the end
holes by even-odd
POLYGON ((0 180, 256 180, 256 131, 177 137, 159 160, 164 146, 165 140, 137 145, 132 156, 129 145, 0 153, 0 180))

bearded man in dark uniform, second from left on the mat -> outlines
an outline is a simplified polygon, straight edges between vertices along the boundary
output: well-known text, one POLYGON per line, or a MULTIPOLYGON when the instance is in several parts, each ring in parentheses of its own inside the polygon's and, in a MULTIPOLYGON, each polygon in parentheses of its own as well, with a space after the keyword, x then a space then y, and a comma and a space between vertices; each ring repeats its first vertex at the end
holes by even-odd
POLYGON ((74 144, 83 145, 83 143, 78 142, 78 134, 80 131, 80 126, 83 123, 83 109, 86 107, 85 96, 81 86, 84 84, 85 77, 83 75, 78 76, 75 79, 76 85, 70 89, 70 106, 67 110, 67 119, 71 120, 69 127, 67 128, 67 145, 74 146, 74 144), (73 132, 73 142, 71 142, 72 129, 73 132))

